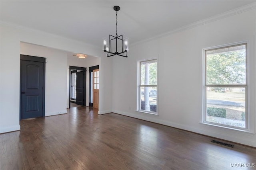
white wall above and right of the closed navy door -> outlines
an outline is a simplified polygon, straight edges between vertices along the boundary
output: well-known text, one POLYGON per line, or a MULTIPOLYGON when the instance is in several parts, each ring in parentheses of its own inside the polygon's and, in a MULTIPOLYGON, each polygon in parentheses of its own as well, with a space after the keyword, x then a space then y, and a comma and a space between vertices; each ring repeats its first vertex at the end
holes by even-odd
POLYGON ((20 43, 20 54, 46 58, 45 116, 67 113, 66 65, 67 52, 44 46, 20 43))

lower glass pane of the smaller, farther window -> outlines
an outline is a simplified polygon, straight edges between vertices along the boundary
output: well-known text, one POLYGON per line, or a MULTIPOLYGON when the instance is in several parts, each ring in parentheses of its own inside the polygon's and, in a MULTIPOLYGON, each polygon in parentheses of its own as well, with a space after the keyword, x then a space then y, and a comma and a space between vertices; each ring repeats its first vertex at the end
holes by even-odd
POLYGON ((156 87, 140 87, 140 110, 156 112, 156 87))

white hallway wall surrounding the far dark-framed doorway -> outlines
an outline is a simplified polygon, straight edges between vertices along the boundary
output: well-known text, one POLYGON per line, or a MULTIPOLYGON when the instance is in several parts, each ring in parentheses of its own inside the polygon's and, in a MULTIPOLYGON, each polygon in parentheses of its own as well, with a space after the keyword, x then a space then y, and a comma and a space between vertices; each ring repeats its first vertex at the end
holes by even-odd
POLYGON ((97 66, 100 64, 99 57, 93 57, 90 59, 79 59, 74 57, 73 59, 68 58, 68 74, 67 74, 67 108, 69 107, 69 66, 86 67, 86 106, 89 106, 89 67, 97 66))

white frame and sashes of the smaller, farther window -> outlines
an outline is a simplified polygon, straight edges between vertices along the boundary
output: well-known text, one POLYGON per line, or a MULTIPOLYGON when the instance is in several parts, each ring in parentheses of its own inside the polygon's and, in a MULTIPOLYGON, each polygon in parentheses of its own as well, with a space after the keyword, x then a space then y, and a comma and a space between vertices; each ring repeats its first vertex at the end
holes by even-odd
POLYGON ((145 60, 140 60, 138 61, 138 72, 137 72, 137 76, 138 76, 138 84, 137 84, 137 110, 138 112, 141 113, 147 113, 147 114, 151 114, 151 115, 158 115, 158 94, 159 94, 159 90, 158 90, 158 59, 157 58, 152 58, 152 59, 145 59, 145 60), (156 85, 141 85, 141 63, 147 62, 147 61, 156 61, 156 85), (157 93, 156 93, 156 112, 154 111, 146 111, 146 110, 142 110, 141 108, 141 91, 140 88, 141 87, 156 87, 157 89, 157 93))

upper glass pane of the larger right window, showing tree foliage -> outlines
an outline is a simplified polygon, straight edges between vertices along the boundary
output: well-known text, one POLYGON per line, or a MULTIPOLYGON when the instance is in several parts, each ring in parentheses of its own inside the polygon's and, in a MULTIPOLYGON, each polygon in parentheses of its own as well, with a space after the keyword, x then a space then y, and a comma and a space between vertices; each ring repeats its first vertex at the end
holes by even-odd
POLYGON ((246 45, 206 51, 206 84, 246 84, 246 45))

